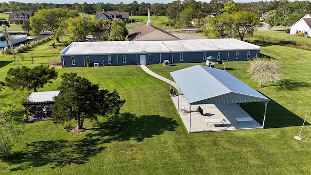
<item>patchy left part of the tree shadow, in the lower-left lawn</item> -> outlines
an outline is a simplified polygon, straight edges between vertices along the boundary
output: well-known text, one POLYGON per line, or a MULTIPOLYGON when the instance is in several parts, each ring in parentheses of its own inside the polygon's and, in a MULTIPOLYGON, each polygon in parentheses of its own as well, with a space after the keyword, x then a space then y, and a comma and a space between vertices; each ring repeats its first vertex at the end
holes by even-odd
POLYGON ((26 144, 26 149, 15 152, 8 163, 26 164, 11 171, 50 164, 52 168, 70 164, 85 164, 90 157, 96 156, 104 147, 99 146, 99 139, 49 140, 26 144))

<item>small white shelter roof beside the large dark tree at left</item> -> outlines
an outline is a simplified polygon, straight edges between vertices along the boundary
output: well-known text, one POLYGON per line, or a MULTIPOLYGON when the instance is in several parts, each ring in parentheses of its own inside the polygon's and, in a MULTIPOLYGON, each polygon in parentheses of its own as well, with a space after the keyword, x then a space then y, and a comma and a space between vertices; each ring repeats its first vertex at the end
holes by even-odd
POLYGON ((28 100, 31 103, 52 102, 54 101, 53 97, 59 95, 59 93, 60 93, 60 90, 33 92, 29 95, 28 100))

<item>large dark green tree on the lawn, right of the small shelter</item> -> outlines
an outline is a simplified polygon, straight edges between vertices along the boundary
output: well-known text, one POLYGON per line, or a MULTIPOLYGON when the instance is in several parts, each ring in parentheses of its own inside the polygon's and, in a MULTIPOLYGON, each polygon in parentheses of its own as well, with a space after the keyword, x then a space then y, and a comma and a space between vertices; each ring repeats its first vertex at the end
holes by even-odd
POLYGON ((85 119, 97 119, 98 115, 118 115, 120 107, 125 103, 119 93, 114 90, 99 89, 86 78, 77 76, 77 73, 64 73, 59 88, 62 93, 54 98, 52 117, 56 123, 68 123, 77 121, 77 128, 83 129, 85 119))

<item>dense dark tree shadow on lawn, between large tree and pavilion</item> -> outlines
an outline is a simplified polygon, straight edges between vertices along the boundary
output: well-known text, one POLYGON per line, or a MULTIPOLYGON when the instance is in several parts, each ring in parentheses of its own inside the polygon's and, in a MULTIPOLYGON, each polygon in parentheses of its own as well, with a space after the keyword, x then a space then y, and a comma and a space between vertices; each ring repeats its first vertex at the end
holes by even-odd
POLYGON ((140 116, 123 113, 119 116, 111 117, 107 122, 97 123, 97 132, 89 133, 89 138, 104 138, 103 142, 137 140, 143 141, 154 135, 160 135, 164 131, 173 131, 178 126, 177 122, 171 118, 160 117, 158 115, 140 116))

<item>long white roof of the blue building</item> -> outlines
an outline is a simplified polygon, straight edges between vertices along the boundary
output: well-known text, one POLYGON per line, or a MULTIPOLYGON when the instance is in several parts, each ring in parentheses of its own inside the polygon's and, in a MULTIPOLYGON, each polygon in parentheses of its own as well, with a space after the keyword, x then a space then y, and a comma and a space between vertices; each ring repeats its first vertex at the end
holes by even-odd
POLYGON ((260 47, 233 38, 171 41, 98 41, 73 42, 61 55, 170 53, 230 50, 259 50, 260 47))

